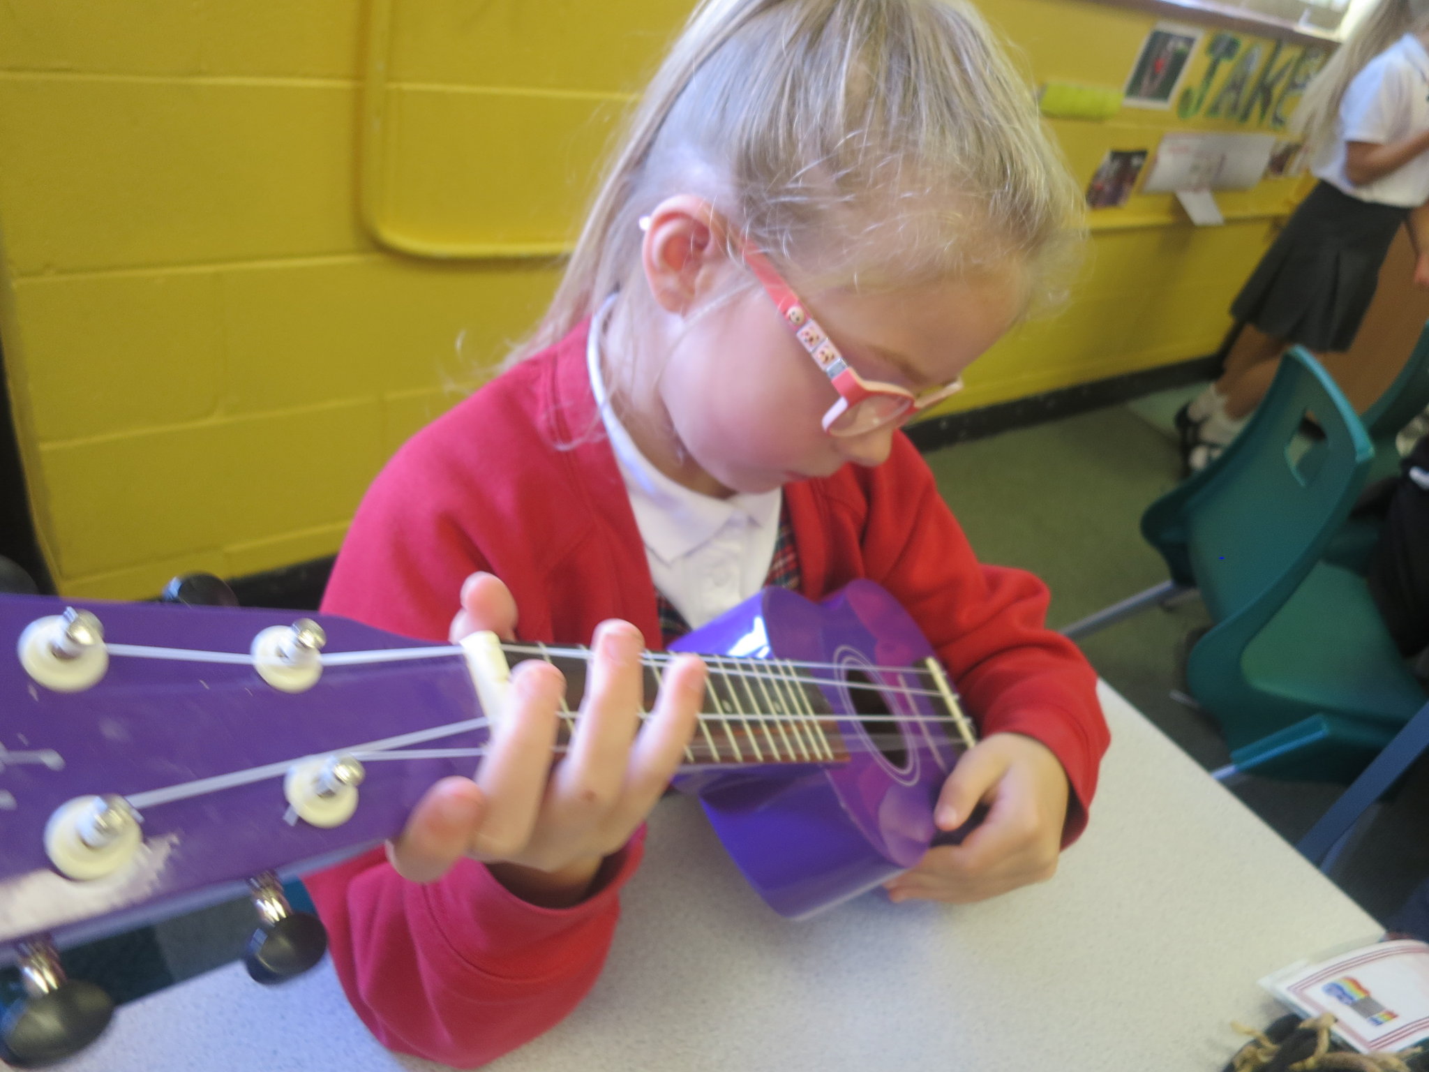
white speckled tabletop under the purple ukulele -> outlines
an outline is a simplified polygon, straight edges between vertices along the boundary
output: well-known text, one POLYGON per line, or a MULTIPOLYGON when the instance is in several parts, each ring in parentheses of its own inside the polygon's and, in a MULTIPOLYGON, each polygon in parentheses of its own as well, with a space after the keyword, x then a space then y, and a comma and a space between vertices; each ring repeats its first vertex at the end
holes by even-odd
MULTIPOLYGON (((669 799, 594 991, 492 1068, 1216 1072, 1256 979, 1375 920, 1103 686, 1113 745, 1050 883, 945 908, 865 896, 812 922, 743 885, 669 799)), ((264 989, 229 966, 120 1009, 66 1072, 399 1072, 324 963, 264 989)))

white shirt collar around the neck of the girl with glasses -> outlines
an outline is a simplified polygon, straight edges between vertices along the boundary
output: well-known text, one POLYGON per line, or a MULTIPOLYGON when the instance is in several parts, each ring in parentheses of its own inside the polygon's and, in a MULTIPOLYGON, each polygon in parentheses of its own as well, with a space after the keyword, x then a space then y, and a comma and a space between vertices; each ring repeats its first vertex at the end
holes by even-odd
POLYGON ((636 447, 634 440, 630 439, 616 416, 614 406, 610 405, 600 369, 600 346, 614 300, 614 294, 607 297, 590 322, 586 364, 590 372, 590 389, 600 410, 600 420, 606 426, 616 465, 620 467, 626 492, 630 495, 630 506, 640 529, 640 539, 662 562, 670 563, 707 543, 730 522, 742 519, 756 527, 777 525, 779 509, 783 503, 782 489, 776 487, 773 492, 760 495, 714 499, 676 483, 656 469, 636 447))

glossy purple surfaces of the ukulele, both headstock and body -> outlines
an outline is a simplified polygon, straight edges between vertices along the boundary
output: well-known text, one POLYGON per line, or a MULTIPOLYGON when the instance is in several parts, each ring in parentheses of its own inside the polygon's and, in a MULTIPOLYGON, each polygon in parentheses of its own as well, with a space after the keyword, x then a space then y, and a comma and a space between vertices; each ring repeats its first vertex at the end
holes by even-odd
MULTIPOLYGON (((16 643, 37 617, 66 606, 93 610, 109 645, 247 653, 254 635, 287 626, 286 610, 0 596, 0 946, 50 932, 64 945, 149 922, 213 899, 266 870, 302 873, 396 835, 440 778, 470 775, 474 758, 366 762, 356 815, 336 829, 286 822, 282 776, 143 808, 144 848, 126 870, 94 882, 60 876, 44 853, 44 826, 66 800, 133 798, 201 778, 313 755, 356 750, 386 738, 479 718, 456 655, 372 666, 329 666, 310 690, 269 686, 252 666, 111 655, 91 689, 59 693, 30 680, 16 643), (61 769, 34 762, 53 749, 61 769)), ((324 655, 424 647, 356 622, 317 616, 324 655)), ((932 655, 912 619, 880 587, 855 582, 823 605, 770 589, 676 647, 736 657, 910 666, 932 655)), ((836 670, 803 670, 835 712, 852 715, 836 670)), ((896 686, 897 675, 883 678, 896 686)), ((917 685, 912 679, 907 685, 917 685)), ((902 715, 946 716, 926 696, 885 693, 902 715)), ((842 718, 850 760, 829 766, 704 769, 697 790, 730 855, 759 893, 787 916, 855 896, 915 863, 936 830, 932 802, 957 750, 929 723, 900 723, 899 768, 842 718)), ((467 730, 414 748, 474 748, 467 730)), ((0 951, 3 958, 3 951, 0 951)))

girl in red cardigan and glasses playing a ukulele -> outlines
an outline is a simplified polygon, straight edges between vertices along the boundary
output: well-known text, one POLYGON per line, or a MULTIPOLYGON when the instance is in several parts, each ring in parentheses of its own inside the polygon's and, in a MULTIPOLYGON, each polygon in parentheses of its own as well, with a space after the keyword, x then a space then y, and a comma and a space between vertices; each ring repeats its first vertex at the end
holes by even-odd
POLYGON ((700 699, 683 660, 636 732, 639 649, 765 585, 882 583, 980 722, 936 822, 986 819, 893 900, 1052 875, 1107 743, 1095 676, 1043 629, 1037 580, 976 562, 897 429, 1046 290, 1077 203, 972 10, 696 9, 536 337, 389 463, 327 590, 412 636, 594 630, 602 659, 554 770, 560 682, 527 665, 476 780, 436 785, 387 858, 313 879, 384 1043, 476 1065, 582 998, 700 699))

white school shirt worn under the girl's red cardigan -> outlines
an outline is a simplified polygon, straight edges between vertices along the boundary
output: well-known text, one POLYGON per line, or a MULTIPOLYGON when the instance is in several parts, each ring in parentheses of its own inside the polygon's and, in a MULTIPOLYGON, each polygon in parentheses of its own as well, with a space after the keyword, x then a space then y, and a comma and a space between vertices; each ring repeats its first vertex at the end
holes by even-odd
POLYGON ((610 446, 644 543, 654 586, 699 629, 765 586, 779 540, 783 490, 713 499, 667 477, 640 453, 616 417, 600 372, 600 344, 614 297, 590 322, 586 366, 610 446))

